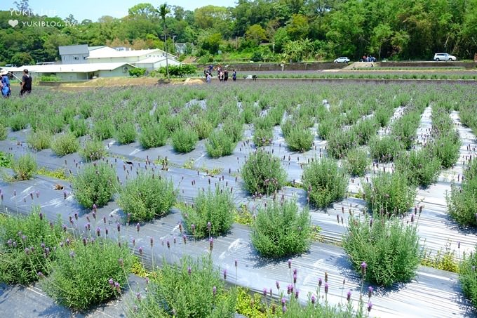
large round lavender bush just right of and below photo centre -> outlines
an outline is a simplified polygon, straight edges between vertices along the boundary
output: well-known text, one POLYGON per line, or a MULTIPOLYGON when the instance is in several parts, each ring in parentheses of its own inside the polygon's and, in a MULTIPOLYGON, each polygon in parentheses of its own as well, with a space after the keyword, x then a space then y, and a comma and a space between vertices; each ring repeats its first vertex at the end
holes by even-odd
POLYGON ((272 194, 285 184, 286 172, 273 154, 257 150, 242 167, 242 178, 250 194, 272 194))

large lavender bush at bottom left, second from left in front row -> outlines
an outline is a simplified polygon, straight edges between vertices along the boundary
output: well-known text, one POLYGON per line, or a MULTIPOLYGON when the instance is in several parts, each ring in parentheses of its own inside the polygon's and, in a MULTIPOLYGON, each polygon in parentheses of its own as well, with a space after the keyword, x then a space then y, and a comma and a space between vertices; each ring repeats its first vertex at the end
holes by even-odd
POLYGON ((84 311, 121 295, 132 265, 126 244, 83 239, 83 243, 65 244, 56 253, 51 275, 41 282, 56 303, 84 311))

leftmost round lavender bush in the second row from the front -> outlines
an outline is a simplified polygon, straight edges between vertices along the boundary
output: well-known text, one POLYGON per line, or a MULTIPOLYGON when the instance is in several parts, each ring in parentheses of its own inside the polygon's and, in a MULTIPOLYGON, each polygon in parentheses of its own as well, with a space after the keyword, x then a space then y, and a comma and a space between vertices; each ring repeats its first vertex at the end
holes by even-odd
POLYGON ((105 206, 116 192, 116 171, 105 162, 86 164, 73 178, 72 187, 76 201, 85 208, 105 206))

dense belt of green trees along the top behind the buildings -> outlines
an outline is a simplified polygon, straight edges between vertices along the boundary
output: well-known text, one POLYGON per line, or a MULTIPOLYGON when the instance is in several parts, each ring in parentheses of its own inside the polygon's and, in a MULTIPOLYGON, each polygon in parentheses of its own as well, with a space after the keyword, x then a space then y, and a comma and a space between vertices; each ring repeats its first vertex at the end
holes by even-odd
MULTIPOLYGON (((13 6, 30 10, 28 0, 13 6)), ((164 48, 164 35, 168 49, 174 38, 189 44, 187 53, 207 59, 236 50, 247 59, 276 61, 364 54, 429 60, 437 51, 470 59, 477 53, 477 0, 237 0, 233 8, 166 7, 164 18, 161 7, 144 2, 123 18, 81 22, 72 14, 64 20, 19 14, 17 27, 8 25, 10 11, 0 11, 0 62, 55 60, 58 46, 68 44, 164 48), (54 23, 23 27, 35 21, 54 23)))

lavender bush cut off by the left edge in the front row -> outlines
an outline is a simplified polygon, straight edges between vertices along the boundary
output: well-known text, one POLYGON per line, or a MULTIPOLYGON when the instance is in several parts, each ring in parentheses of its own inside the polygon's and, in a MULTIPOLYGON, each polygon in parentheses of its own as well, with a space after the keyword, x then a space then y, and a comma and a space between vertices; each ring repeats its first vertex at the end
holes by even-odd
POLYGON ((28 285, 38 272, 48 274, 65 237, 60 224, 48 223, 36 207, 28 216, 0 216, 0 281, 28 285))

